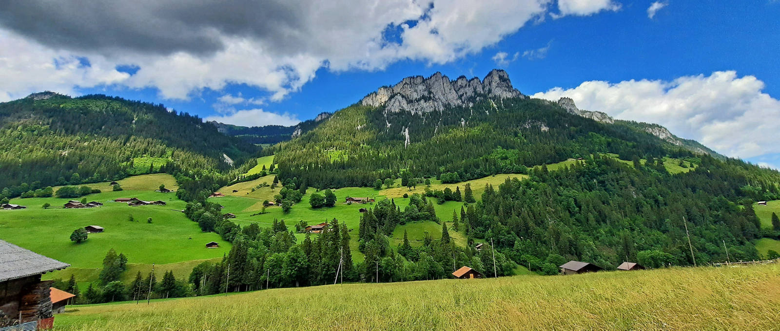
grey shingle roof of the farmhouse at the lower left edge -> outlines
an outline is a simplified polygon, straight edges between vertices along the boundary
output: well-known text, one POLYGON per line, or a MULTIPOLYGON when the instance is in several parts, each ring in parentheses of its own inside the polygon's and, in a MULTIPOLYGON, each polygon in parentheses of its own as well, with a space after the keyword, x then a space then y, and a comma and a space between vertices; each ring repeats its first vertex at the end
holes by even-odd
POLYGON ((0 240, 0 282, 65 269, 70 265, 0 240))

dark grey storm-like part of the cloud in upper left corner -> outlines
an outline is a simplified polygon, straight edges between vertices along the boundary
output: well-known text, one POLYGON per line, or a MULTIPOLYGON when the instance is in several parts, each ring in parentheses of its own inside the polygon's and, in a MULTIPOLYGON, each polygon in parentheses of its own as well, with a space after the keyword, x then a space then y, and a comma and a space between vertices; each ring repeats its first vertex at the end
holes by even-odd
MULTIPOLYGON (((300 40, 296 2, 0 0, 0 27, 52 48, 104 54, 209 54, 222 37, 259 38, 287 48, 300 40)), ((278 49, 282 50, 282 49, 278 49)))

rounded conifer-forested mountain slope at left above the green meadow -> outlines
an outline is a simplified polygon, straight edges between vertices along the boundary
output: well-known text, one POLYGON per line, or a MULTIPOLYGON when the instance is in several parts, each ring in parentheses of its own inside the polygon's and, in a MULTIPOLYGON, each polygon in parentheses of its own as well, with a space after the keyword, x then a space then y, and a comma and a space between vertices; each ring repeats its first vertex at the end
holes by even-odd
POLYGON ((12 197, 172 168, 210 173, 259 148, 163 105, 44 92, 0 104, 0 151, 0 189, 12 197))

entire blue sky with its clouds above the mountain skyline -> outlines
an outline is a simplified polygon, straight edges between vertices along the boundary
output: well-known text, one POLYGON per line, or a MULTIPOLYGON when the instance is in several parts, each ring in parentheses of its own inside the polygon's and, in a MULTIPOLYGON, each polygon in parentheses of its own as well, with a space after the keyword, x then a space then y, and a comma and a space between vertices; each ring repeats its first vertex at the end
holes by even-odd
MULTIPOLYGON (((229 17, 223 22, 205 5, 193 6, 188 13, 206 12, 190 16, 201 21, 163 29, 211 27, 217 36, 123 29, 122 22, 134 23, 129 16, 154 20, 119 2, 121 16, 93 13, 105 16, 105 27, 98 19, 72 35, 39 31, 83 24, 55 16, 65 9, 35 12, 53 21, 51 27, 0 15, 0 40, 20 50, 5 54, 10 64, 0 65, 0 78, 23 80, 0 84, 0 101, 42 89, 102 93, 233 124, 290 125, 403 77, 440 71, 452 79, 482 78, 501 68, 524 94, 569 96, 581 109, 660 123, 726 155, 780 165, 780 133, 771 121, 780 118, 777 0, 260 3, 257 16, 284 14, 269 16, 273 25, 258 25, 255 16, 239 17, 252 9, 222 8, 229 17), (651 7, 658 9, 652 17, 651 7), (104 30, 106 41, 73 43, 104 30), (56 66, 41 69, 46 61, 56 66)), ((35 5, 10 12, 40 9, 35 5)), ((165 23, 175 14, 154 13, 170 15, 162 17, 165 23)))

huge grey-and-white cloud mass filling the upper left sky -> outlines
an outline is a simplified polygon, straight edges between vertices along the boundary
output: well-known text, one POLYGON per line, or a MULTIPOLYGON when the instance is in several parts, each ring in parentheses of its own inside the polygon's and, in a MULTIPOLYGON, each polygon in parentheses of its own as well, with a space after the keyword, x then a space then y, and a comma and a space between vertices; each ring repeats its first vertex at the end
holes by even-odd
MULTIPOLYGON (((317 69, 381 70, 404 59, 441 64, 480 52, 551 0, 266 0, 9 2, 0 12, 0 101, 44 89, 153 87, 187 99, 246 84, 278 101, 317 69), (66 66, 54 59, 66 59, 66 66), (90 66, 76 66, 88 59, 90 66), (133 75, 115 69, 137 66, 133 75)), ((558 16, 615 10, 612 0, 559 0, 558 16)))

